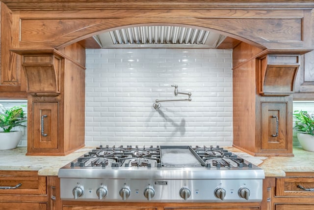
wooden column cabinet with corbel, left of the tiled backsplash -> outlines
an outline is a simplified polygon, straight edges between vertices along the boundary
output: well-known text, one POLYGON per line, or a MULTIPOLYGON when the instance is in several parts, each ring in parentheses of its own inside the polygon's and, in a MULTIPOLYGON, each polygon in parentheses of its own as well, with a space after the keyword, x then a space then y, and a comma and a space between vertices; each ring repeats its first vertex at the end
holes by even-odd
POLYGON ((76 43, 62 52, 15 52, 23 55, 27 78, 27 155, 66 155, 84 147, 85 49, 76 43))

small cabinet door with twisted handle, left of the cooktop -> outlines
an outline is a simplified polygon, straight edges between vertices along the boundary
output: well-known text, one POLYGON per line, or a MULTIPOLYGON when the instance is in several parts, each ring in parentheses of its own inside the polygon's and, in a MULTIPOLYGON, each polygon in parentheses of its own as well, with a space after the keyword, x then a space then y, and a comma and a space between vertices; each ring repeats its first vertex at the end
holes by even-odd
POLYGON ((33 102, 33 149, 58 148, 58 102, 33 102))

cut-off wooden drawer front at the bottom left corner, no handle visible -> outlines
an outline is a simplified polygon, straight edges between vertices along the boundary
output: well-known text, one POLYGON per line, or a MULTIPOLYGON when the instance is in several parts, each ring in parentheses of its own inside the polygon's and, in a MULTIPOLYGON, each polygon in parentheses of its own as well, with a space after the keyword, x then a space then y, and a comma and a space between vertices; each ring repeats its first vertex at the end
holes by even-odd
POLYGON ((0 210, 47 210, 47 203, 0 202, 0 210))

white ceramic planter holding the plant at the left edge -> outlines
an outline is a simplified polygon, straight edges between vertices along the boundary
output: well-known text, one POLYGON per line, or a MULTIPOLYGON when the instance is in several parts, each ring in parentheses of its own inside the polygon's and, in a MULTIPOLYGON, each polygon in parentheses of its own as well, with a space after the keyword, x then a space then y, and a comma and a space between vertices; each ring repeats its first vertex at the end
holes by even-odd
POLYGON ((11 150, 18 146, 22 139, 21 131, 0 132, 0 150, 11 150))

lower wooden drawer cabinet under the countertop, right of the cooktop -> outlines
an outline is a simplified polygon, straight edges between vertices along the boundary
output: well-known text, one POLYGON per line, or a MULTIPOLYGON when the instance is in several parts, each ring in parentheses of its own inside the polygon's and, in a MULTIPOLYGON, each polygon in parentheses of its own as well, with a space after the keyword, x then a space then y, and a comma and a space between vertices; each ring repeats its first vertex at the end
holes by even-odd
POLYGON ((286 177, 276 178, 274 210, 313 210, 314 191, 302 188, 314 189, 313 172, 286 172, 286 177))

